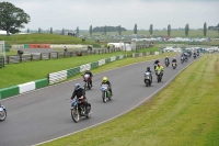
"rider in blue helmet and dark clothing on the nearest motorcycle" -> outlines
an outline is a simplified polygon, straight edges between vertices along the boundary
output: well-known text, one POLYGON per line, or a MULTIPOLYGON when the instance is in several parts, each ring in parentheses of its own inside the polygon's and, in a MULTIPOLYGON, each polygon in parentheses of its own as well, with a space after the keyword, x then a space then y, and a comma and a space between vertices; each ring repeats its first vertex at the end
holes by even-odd
MULTIPOLYGON (((90 103, 88 103, 88 100, 85 98, 85 91, 84 91, 83 88, 81 88, 80 83, 74 85, 74 90, 73 90, 73 93, 71 96, 71 100, 73 100, 74 97, 77 97, 78 100, 82 101, 82 104, 84 104, 85 111, 87 111, 88 104, 90 104, 90 103)), ((89 112, 89 111, 87 111, 87 112, 89 112)))

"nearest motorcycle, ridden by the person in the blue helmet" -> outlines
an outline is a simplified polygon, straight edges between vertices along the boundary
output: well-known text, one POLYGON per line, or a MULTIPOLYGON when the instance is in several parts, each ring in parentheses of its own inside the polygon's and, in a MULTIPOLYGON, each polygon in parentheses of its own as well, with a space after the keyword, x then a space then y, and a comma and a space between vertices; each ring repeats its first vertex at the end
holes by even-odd
POLYGON ((78 123, 82 116, 85 116, 87 119, 91 117, 91 104, 88 103, 88 106, 85 108, 83 99, 73 99, 71 101, 71 117, 76 123, 78 123))

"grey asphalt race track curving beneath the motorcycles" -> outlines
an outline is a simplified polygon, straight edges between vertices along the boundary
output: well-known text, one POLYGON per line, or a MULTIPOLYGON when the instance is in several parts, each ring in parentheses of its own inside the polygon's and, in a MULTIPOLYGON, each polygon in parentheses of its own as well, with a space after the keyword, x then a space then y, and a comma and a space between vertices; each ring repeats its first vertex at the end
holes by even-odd
MULTIPOLYGON (((74 83, 82 83, 82 78, 53 87, 39 89, 25 94, 0 101, 8 110, 7 120, 0 122, 1 146, 30 146, 54 139, 83 128, 97 125, 127 112, 131 108, 147 101, 151 94, 168 85, 188 63, 181 64, 177 58, 176 69, 165 68, 162 82, 146 87, 143 72, 148 66, 153 69, 153 61, 134 64, 117 69, 94 75, 93 88, 87 91, 87 98, 92 105, 91 119, 82 119, 74 123, 70 115, 70 98, 74 83), (100 85, 106 76, 112 82, 114 97, 112 101, 103 103, 100 85)), ((171 58, 172 60, 172 58, 171 58)))

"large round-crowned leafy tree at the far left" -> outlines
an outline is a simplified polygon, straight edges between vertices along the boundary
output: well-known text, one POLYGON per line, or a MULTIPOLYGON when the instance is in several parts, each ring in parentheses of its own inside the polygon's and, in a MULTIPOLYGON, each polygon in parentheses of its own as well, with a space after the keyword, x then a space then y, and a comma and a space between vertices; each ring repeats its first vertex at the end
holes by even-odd
POLYGON ((19 33, 30 21, 30 15, 22 9, 10 2, 0 2, 0 30, 7 31, 8 35, 19 33))

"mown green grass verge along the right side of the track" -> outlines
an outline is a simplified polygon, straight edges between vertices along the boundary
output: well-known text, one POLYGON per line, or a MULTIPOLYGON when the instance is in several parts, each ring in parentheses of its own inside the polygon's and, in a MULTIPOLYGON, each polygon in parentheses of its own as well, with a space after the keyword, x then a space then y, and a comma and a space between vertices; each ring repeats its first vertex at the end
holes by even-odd
POLYGON ((218 146, 218 66, 205 55, 142 106, 43 146, 218 146))

